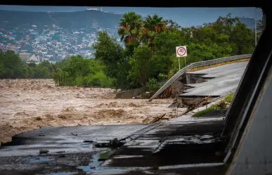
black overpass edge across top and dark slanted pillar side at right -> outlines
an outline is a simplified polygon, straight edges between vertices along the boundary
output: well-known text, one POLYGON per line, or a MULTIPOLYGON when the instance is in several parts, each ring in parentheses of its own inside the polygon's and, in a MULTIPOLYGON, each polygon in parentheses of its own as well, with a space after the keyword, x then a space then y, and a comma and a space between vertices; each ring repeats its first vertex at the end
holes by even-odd
MULTIPOLYGON (((243 142, 242 136, 246 135, 246 128, 248 122, 253 115, 256 115, 257 107, 261 108, 259 103, 262 99, 262 91, 264 91, 264 85, 267 85, 267 78, 269 77, 272 67, 271 59, 271 48, 272 48, 272 15, 271 5, 269 1, 167 1, 165 4, 145 4, 146 1, 137 1, 135 4, 131 2, 122 1, 63 1, 57 3, 56 1, 33 1, 33 2, 22 2, 22 1, 1 1, 1 4, 6 5, 32 5, 32 6, 138 6, 138 7, 259 7, 263 9, 265 30, 261 34, 259 43, 257 44, 252 58, 247 65, 247 69, 242 77, 242 80, 238 86, 238 90, 235 93, 235 98, 231 103, 231 108, 228 110, 226 116, 226 123, 222 136, 228 140, 228 147, 226 148, 225 162, 232 162, 238 146, 243 142), (265 83, 266 82, 266 83, 265 83)), ((268 89, 265 89, 268 91, 268 89)), ((267 93, 272 94, 272 92, 267 93)), ((272 98, 270 101, 266 101, 268 104, 272 104, 272 98)), ((272 113, 270 111, 263 111, 264 113, 272 113)), ((261 113, 259 113, 261 115, 261 113)), ((253 116, 254 117, 254 116, 253 116)), ((256 116, 255 116, 256 117, 256 116)), ((272 117, 272 116, 268 116, 272 117)), ((265 126, 264 126, 265 127, 265 126)), ((261 133, 260 133, 261 134, 261 133)), ((261 144, 261 143, 260 143, 261 144)), ((270 144, 272 145, 272 144, 270 144)))

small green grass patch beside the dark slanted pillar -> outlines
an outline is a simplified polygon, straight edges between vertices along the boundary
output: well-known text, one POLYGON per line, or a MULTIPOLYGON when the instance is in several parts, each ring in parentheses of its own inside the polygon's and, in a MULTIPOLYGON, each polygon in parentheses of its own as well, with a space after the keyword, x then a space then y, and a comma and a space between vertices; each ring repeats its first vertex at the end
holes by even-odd
POLYGON ((224 98, 224 100, 220 101, 218 104, 211 105, 209 108, 207 108, 205 110, 200 110, 198 112, 195 112, 195 114, 193 114, 192 117, 201 117, 203 115, 207 115, 210 112, 214 112, 216 110, 227 109, 226 103, 231 103, 231 101, 233 100, 233 96, 234 96, 234 93, 231 93, 230 95, 226 96, 226 98, 224 98))

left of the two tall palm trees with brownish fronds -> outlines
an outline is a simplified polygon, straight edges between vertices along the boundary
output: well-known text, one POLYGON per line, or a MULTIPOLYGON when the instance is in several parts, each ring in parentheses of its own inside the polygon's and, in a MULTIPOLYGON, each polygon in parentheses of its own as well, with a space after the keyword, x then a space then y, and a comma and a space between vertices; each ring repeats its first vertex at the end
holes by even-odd
POLYGON ((119 22, 118 34, 121 36, 121 41, 125 44, 131 44, 138 37, 138 32, 141 29, 141 15, 135 12, 124 13, 123 18, 119 22))

